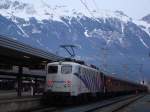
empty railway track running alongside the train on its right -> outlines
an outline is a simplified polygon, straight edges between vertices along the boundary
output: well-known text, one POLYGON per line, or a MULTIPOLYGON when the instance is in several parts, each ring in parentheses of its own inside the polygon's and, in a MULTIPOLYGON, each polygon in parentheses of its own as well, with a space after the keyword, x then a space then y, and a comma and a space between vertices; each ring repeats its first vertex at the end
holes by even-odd
POLYGON ((62 110, 61 112, 118 112, 122 108, 128 106, 129 104, 142 97, 144 97, 144 95, 131 95, 119 98, 117 97, 110 100, 93 103, 91 105, 62 110))

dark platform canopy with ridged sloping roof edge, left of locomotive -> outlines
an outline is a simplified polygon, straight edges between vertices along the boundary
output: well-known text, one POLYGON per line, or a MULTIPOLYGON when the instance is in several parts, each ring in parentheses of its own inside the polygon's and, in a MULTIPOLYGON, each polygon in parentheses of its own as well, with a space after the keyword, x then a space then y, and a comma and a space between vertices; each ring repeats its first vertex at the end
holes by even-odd
POLYGON ((0 35, 0 62, 18 66, 41 65, 63 58, 0 35))

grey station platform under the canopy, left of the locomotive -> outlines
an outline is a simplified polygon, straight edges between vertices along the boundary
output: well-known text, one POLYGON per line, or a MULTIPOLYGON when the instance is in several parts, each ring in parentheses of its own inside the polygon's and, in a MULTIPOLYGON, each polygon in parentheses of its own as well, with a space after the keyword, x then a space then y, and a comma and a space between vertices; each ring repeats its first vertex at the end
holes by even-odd
POLYGON ((40 106, 41 96, 21 96, 0 99, 0 112, 21 112, 40 106))

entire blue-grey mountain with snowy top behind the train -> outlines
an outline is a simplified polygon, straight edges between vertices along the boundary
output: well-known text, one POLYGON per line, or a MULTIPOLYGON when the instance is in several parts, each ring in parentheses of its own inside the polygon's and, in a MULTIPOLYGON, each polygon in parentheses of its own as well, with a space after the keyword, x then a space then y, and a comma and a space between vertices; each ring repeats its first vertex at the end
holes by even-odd
POLYGON ((0 26, 2 35, 62 56, 60 45, 78 45, 76 58, 119 77, 150 78, 148 17, 132 20, 121 11, 85 13, 42 0, 38 5, 1 0, 0 26))

